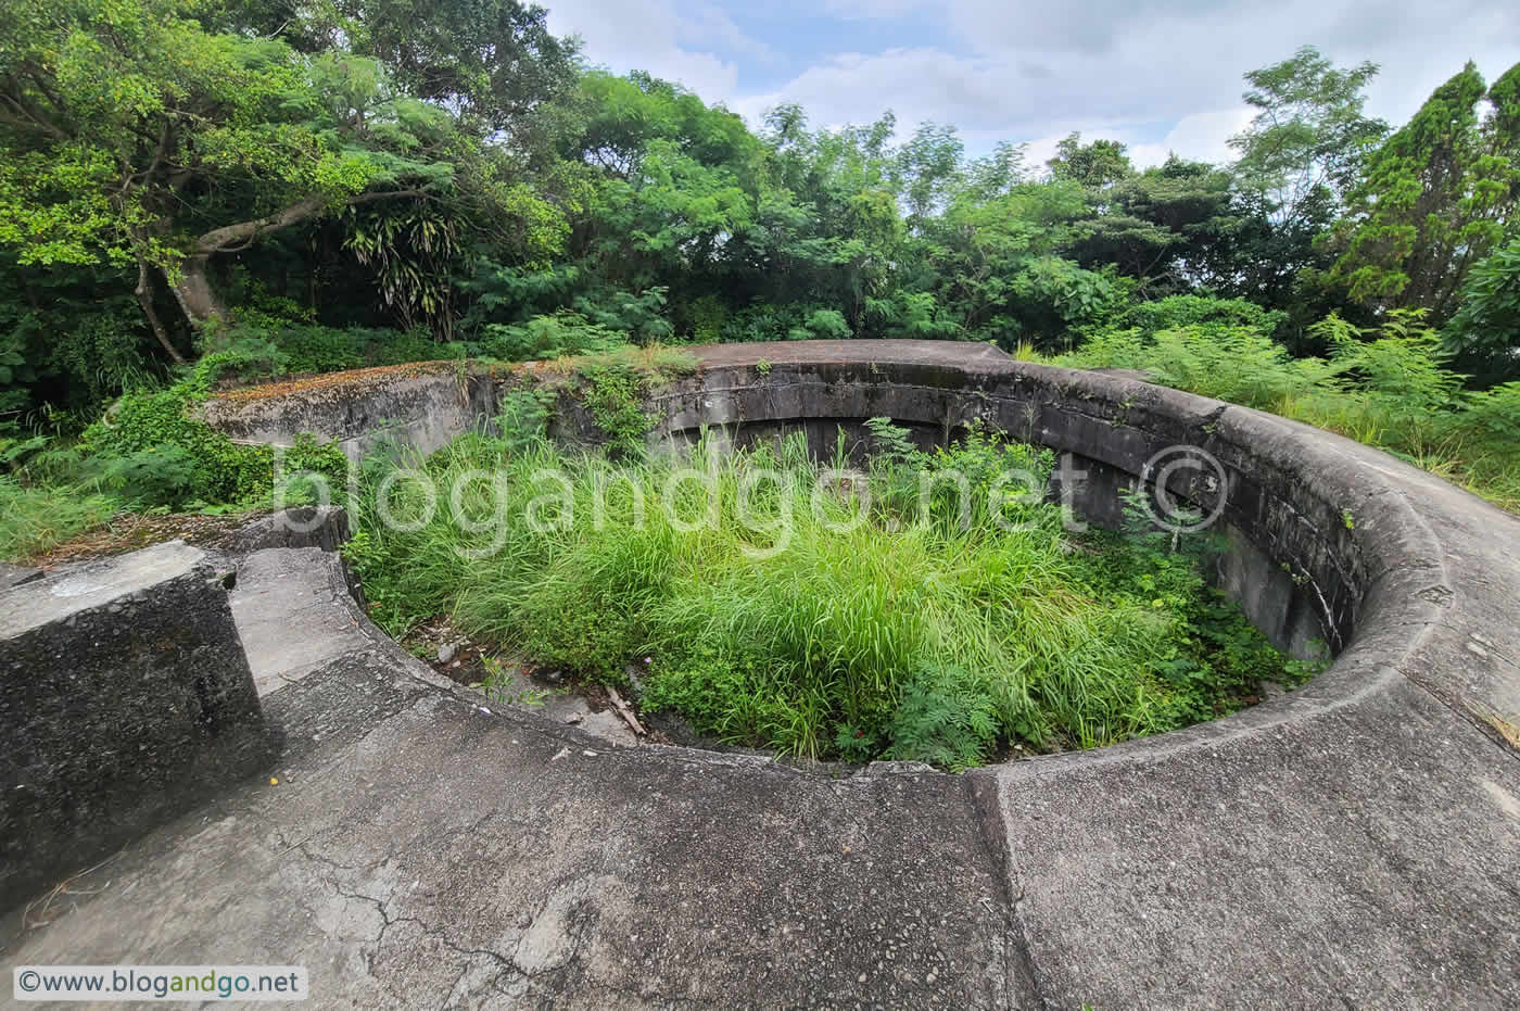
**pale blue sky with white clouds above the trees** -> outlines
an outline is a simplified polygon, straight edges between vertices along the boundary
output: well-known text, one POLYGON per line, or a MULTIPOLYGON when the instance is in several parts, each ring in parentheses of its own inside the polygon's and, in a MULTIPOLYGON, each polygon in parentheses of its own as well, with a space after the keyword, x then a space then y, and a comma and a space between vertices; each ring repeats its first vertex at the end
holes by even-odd
POLYGON ((1477 62, 1493 81, 1520 62, 1511 0, 538 0, 591 64, 648 70, 758 126, 798 102, 818 126, 900 134, 953 123, 971 155, 1029 144, 1040 164, 1072 131, 1227 161, 1251 119, 1242 74, 1316 46, 1382 73, 1366 111, 1401 125, 1477 62))

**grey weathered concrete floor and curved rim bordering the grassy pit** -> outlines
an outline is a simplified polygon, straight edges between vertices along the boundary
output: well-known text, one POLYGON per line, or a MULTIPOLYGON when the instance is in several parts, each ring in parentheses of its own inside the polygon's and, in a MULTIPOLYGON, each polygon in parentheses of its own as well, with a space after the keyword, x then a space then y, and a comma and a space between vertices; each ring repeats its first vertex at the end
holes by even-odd
POLYGON ((1249 566, 1289 567, 1338 658, 1151 740, 828 780, 605 751, 375 646, 269 696, 280 788, 132 847, 120 885, 15 961, 289 956, 357 1005, 1520 1005, 1502 733, 1520 722, 1520 520, 1324 432, 979 345, 698 357, 658 391, 661 436, 985 418, 1110 468, 1105 486, 1202 447, 1222 485, 1176 491, 1224 496, 1249 566))

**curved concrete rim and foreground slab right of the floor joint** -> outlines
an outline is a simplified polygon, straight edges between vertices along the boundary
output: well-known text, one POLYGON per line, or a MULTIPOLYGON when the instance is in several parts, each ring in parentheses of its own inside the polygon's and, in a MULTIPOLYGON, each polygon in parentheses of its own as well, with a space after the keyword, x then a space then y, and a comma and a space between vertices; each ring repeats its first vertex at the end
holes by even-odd
MULTIPOLYGON (((1224 515, 1307 575, 1342 646, 1228 719, 970 774, 1047 1006, 1520 1000, 1520 518, 1257 410, 976 345, 698 351, 663 435, 986 418, 1135 476, 1202 447, 1224 515)), ((1211 493, 1187 490, 1211 505, 1211 493)))

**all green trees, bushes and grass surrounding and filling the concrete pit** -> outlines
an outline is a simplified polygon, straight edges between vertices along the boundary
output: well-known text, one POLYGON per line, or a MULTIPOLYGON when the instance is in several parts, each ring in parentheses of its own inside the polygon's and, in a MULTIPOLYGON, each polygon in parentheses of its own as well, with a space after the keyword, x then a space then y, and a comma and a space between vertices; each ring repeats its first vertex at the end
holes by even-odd
MULTIPOLYGON (((985 496, 962 526, 910 479, 953 465, 985 493, 1005 465, 1038 476, 1040 455, 976 435, 930 461, 877 424, 871 506, 848 532, 831 528, 854 483, 815 515, 798 445, 699 455, 720 521, 686 532, 652 505, 675 464, 644 456, 643 394, 690 368, 681 344, 988 341, 1146 369, 1520 511, 1520 67, 1488 82, 1468 64, 1397 129, 1363 113, 1376 74, 1310 47, 1248 71, 1257 114, 1228 164, 1137 167, 1072 134, 1037 166, 1017 143, 968 157, 953 128, 889 111, 818 128, 780 105, 745 123, 585 67, 518 0, 14 0, 0 555, 126 509, 309 497, 269 448, 196 418, 219 383, 546 360, 606 458, 549 448, 553 395, 524 383, 500 435, 420 464, 445 480, 502 468, 500 488, 467 482, 462 520, 377 525, 383 482, 401 511, 420 493, 395 459, 365 461, 350 552, 389 628, 450 613, 582 677, 635 663, 648 708, 848 760, 959 768, 1230 712, 1304 669, 1205 588, 1198 558, 1140 529, 1072 538, 1044 505, 985 496), (537 509, 584 518, 603 500, 606 521, 529 531, 555 491, 532 485, 543 467, 565 485, 537 509), (795 486, 751 486, 765 468, 795 486), (784 512, 787 549, 768 552, 784 512), (489 558, 454 550, 497 532, 489 558)), ((286 467, 344 461, 302 442, 286 467)), ((695 494, 681 486, 682 509, 705 508, 695 494)))

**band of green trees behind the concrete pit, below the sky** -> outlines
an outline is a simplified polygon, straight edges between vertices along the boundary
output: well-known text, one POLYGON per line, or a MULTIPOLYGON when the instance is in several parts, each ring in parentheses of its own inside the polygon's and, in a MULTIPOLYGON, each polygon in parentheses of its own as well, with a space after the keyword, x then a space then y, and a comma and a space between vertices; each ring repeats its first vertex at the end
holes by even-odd
POLYGON ((1363 113, 1376 73, 1312 47, 1248 71, 1228 164, 1073 132, 1032 166, 889 111, 746 125, 585 65, 517 0, 12 0, 0 410, 354 328, 1064 348, 1173 296, 1245 299, 1294 351, 1332 312, 1423 310, 1491 380, 1517 341, 1520 67, 1468 65, 1392 131, 1363 113))

